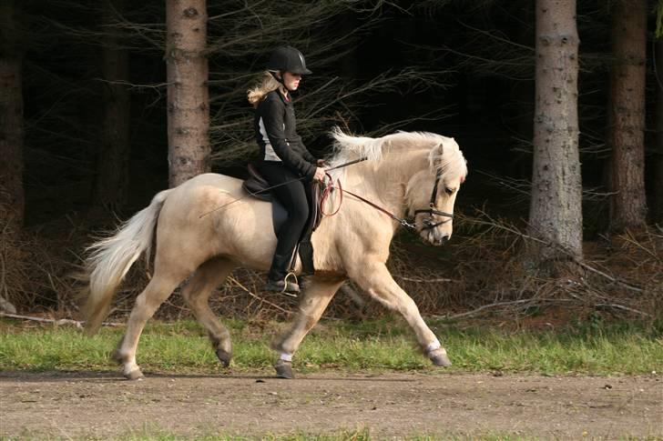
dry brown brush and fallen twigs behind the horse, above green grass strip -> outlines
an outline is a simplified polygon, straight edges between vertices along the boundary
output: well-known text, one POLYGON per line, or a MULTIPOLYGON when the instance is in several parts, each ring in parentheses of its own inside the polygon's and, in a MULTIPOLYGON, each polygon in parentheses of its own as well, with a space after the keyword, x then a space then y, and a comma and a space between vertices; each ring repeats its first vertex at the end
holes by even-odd
MULTIPOLYGON (((541 276, 520 260, 525 234, 507 222, 477 211, 459 215, 454 240, 425 246, 403 233, 393 243, 390 267, 396 281, 413 296, 426 316, 532 319, 549 322, 592 314, 653 319, 663 306, 663 231, 603 237, 586 243, 581 271, 566 277, 541 276)), ((2 230, 0 289, 19 314, 77 317, 76 263, 89 245, 89 226, 66 218, 21 236, 2 230), (63 234, 63 232, 66 232, 63 234), (55 236, 56 239, 45 237, 55 236)), ((113 317, 126 315, 147 284, 148 267, 140 262, 120 287, 113 317)), ((296 300, 260 292, 263 275, 239 269, 212 296, 219 316, 252 319, 287 317, 296 300)), ((385 309, 347 284, 327 316, 363 318, 385 309)), ((158 313, 190 316, 179 293, 158 313)))

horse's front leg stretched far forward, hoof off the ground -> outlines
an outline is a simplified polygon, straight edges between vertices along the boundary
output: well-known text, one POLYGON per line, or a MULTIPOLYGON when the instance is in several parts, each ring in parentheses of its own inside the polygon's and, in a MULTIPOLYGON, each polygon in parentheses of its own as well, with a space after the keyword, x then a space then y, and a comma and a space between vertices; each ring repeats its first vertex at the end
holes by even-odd
POLYGON ((393 280, 384 264, 375 262, 362 266, 361 270, 351 272, 350 276, 370 296, 382 305, 398 311, 413 328, 423 352, 435 366, 451 366, 446 350, 440 345, 433 331, 425 324, 419 308, 412 297, 393 280))

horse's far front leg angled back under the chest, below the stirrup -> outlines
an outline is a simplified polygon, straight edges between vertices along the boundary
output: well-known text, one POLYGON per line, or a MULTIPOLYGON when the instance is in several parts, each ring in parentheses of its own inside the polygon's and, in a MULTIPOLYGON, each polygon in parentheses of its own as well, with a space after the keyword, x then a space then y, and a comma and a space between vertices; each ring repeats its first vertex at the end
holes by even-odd
POLYGON ((307 286, 301 297, 299 313, 288 332, 280 336, 280 339, 273 346, 274 350, 279 353, 279 360, 274 366, 277 376, 280 378, 294 377, 292 356, 297 351, 304 336, 318 323, 331 298, 342 286, 343 281, 343 278, 321 279, 315 276, 307 281, 307 286))

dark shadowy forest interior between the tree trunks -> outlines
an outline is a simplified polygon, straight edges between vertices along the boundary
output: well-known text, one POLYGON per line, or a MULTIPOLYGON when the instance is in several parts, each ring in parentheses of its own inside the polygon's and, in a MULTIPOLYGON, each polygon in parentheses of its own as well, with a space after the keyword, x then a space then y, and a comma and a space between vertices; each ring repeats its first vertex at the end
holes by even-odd
MULTIPOLYGON (((615 17, 611 2, 577 3, 585 239, 597 240, 608 227, 606 107, 615 17)), ((89 232, 114 225, 115 216, 126 219, 168 186, 165 2, 14 4, 19 25, 9 36, 23 61, 24 226, 71 246, 63 258, 76 260, 80 244, 63 239, 89 240, 89 232), (109 82, 108 63, 120 65, 116 72, 125 79, 109 82), (126 153, 111 171, 121 191, 104 200, 103 121, 111 103, 118 130, 127 126, 126 153)), ((661 155, 654 6, 648 5, 645 134, 650 224, 660 221, 663 205, 653 196, 661 155)), ((245 91, 270 49, 290 44, 314 73, 297 93, 300 134, 311 150, 329 152, 334 125, 357 134, 454 136, 470 167, 457 210, 469 215, 482 207, 493 219, 523 223, 532 164, 534 13, 534 2, 525 0, 208 1, 212 169, 243 175, 257 150, 245 91)), ((430 253, 458 258, 448 250, 430 253)))

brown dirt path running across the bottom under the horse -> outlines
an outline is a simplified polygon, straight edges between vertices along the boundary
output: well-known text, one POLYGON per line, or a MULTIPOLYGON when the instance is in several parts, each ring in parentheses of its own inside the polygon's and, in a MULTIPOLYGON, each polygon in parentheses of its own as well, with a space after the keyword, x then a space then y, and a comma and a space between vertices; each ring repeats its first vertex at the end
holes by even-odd
POLYGON ((660 376, 450 374, 117 376, 0 373, 0 436, 312 434, 377 438, 495 433, 663 436, 660 376))

